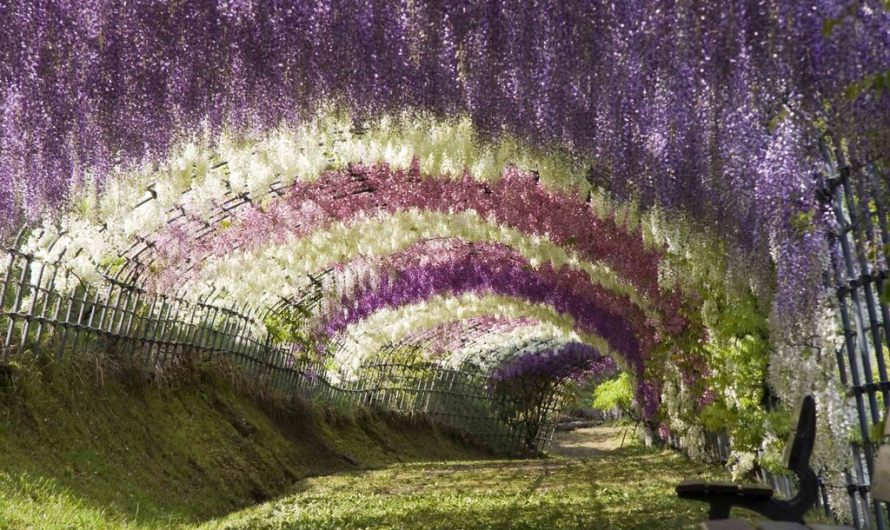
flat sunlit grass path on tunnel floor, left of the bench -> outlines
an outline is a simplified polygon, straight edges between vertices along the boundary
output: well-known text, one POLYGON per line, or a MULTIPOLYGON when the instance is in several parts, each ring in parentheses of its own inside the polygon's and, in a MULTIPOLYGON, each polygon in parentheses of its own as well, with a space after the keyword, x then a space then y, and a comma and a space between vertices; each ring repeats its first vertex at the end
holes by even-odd
POLYGON ((637 445, 584 460, 398 464, 305 479, 283 499, 202 528, 697 528, 705 506, 673 492, 692 477, 725 475, 637 445))

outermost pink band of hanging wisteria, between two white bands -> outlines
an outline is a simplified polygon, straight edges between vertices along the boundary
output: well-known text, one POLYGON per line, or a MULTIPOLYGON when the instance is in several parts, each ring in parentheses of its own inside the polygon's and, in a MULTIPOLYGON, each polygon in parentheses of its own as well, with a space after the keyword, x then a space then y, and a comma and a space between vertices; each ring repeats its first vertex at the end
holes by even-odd
MULTIPOLYGON (((665 314, 676 314, 681 306, 679 293, 664 292, 658 285, 663 253, 646 248, 639 232, 597 216, 579 198, 549 193, 535 182, 534 175, 516 169, 508 169, 499 181, 489 184, 468 175, 460 179, 422 175, 416 164, 410 171, 355 164, 316 182, 296 184, 281 200, 246 208, 225 230, 198 241, 178 226, 162 231, 156 247, 163 272, 156 281, 160 285, 181 282, 187 277, 185 268, 191 276, 200 275, 201 263, 208 256, 281 244, 311 235, 333 221, 409 208, 443 213, 473 210, 529 236, 546 235, 584 258, 608 264, 656 301, 665 314)), ((682 325, 682 318, 674 323, 675 328, 682 325)))

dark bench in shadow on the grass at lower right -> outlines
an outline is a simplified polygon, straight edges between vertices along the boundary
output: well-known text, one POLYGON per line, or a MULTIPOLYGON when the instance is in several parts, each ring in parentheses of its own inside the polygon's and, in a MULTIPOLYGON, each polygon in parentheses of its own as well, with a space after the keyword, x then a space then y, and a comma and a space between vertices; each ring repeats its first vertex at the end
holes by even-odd
MULTIPOLYGON (((819 480, 810 467, 810 456, 816 442, 816 401, 813 396, 801 404, 797 428, 786 448, 786 466, 797 475, 799 488, 791 499, 779 500, 773 489, 762 485, 739 485, 732 482, 688 480, 677 486, 677 495, 711 505, 709 520, 728 519, 736 506, 757 512, 773 521, 803 523, 804 514, 819 498, 819 480)), ((712 528, 712 527, 708 527, 712 528)), ((718 527, 713 527, 718 528, 718 527)), ((732 527, 725 527, 727 530, 732 527)), ((744 527, 740 527, 744 528, 744 527)))

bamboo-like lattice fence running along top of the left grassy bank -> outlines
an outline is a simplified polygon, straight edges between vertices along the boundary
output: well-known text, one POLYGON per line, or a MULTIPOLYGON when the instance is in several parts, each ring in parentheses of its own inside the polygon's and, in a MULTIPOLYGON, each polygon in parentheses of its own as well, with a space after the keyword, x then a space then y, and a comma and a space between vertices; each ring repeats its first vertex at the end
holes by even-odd
POLYGON ((297 358, 291 344, 273 339, 249 309, 153 294, 114 277, 87 284, 61 265, 61 257, 52 261, 21 250, 21 240, 20 234, 5 249, 0 269, 0 366, 29 352, 56 359, 105 352, 162 374, 192 356, 219 356, 284 395, 425 416, 499 452, 542 452, 555 430, 562 406, 557 392, 544 396, 541 420, 529 428, 517 404, 493 392, 481 374, 376 363, 335 384, 322 365, 297 358))

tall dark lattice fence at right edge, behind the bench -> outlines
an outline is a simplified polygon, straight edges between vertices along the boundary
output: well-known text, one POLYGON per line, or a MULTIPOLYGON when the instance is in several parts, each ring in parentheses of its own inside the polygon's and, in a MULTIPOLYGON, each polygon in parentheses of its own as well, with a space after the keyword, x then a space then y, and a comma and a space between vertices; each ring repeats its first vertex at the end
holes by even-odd
POLYGON ((846 471, 847 496, 857 528, 888 528, 887 506, 872 501, 877 442, 890 400, 890 179, 875 165, 848 161, 840 148, 822 144, 825 169, 818 175, 820 199, 832 219, 827 283, 836 293, 844 345, 836 353, 841 384, 856 407, 846 471))

